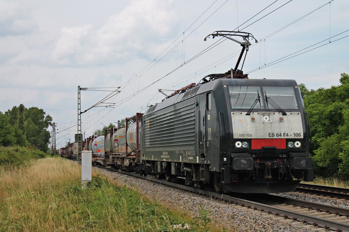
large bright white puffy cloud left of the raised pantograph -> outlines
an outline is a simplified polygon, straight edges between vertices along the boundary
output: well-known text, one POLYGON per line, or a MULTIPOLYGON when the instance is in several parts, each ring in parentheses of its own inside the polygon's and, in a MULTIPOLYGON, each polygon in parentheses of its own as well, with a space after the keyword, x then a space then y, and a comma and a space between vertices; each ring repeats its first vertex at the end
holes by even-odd
POLYGON ((90 24, 64 27, 52 58, 61 65, 101 65, 149 56, 159 45, 167 45, 168 39, 163 37, 172 39, 176 10, 170 6, 167 1, 131 1, 125 9, 110 16, 93 36, 90 24))

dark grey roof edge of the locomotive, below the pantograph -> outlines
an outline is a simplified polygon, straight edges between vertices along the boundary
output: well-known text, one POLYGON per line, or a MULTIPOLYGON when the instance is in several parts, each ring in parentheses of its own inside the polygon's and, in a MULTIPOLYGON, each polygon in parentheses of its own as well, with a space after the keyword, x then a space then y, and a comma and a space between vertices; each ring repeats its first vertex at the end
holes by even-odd
POLYGON ((198 94, 215 89, 222 89, 224 85, 260 85, 260 86, 296 86, 297 82, 291 79, 230 79, 220 78, 208 83, 196 85, 191 89, 187 89, 184 93, 176 94, 163 100, 162 103, 149 107, 144 113, 148 115, 156 111, 162 110, 171 105, 183 102, 186 99, 195 97, 198 94))

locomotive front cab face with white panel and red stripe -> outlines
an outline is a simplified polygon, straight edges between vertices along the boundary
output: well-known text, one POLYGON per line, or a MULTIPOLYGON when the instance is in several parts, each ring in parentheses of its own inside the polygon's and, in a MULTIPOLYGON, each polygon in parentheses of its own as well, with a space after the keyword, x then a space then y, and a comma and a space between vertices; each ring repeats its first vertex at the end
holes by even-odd
POLYGON ((214 95, 225 99, 215 102, 221 173, 216 186, 234 192, 270 193, 294 191, 300 180, 312 181, 309 129, 297 83, 266 79, 214 82, 214 95))

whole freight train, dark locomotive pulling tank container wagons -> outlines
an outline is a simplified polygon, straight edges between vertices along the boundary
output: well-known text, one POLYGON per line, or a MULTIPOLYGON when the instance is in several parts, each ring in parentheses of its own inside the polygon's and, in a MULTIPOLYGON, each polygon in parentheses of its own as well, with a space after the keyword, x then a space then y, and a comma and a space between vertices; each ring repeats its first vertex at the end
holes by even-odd
MULTIPOLYGON (((101 165, 211 185, 217 193, 294 191, 301 180, 313 181, 309 146, 309 119, 296 81, 248 79, 237 66, 175 91, 126 118, 126 127, 83 144, 101 165)), ((72 147, 60 154, 74 157, 72 147)))

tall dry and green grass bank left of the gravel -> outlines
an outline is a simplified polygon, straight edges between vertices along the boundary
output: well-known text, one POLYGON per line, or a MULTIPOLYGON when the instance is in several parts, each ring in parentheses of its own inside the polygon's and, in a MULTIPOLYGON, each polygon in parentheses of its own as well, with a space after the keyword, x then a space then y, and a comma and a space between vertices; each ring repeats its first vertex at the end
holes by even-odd
POLYGON ((0 231, 221 231, 203 209, 191 218, 92 175, 82 190, 81 166, 58 157, 1 168, 0 231))

